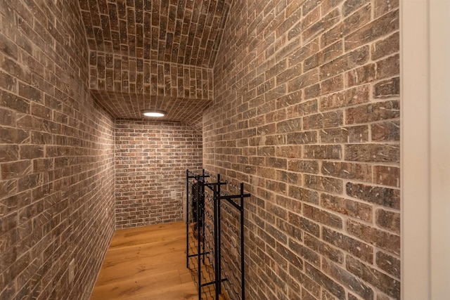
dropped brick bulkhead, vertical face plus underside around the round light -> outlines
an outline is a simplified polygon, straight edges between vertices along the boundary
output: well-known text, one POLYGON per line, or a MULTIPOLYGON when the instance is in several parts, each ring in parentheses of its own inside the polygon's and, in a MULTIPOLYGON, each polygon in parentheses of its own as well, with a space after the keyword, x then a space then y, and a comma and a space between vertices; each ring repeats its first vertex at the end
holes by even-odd
POLYGON ((213 98, 212 69, 91 51, 90 88, 118 119, 141 119, 142 110, 165 110, 165 120, 198 131, 213 98))

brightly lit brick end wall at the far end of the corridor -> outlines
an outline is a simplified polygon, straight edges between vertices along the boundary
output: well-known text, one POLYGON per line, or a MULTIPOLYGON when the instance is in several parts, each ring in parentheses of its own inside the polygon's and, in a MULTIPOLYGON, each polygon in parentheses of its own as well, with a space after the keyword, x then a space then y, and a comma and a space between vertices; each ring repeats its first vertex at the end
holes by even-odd
POLYGON ((116 228, 181 221, 186 169, 202 168, 202 135, 174 122, 117 120, 116 228))

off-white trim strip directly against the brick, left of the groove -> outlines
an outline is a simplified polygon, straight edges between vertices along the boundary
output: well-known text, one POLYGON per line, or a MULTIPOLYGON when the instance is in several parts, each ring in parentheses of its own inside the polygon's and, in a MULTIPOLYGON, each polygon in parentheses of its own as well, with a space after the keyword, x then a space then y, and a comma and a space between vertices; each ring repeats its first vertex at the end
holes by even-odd
POLYGON ((400 2, 401 299, 430 299, 428 1, 400 2))

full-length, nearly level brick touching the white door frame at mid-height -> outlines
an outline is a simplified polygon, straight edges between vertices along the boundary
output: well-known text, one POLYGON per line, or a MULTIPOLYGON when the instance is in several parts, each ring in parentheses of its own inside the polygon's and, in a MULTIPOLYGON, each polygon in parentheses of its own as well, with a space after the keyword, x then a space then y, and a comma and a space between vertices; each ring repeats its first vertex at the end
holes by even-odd
POLYGON ((400 160, 399 145, 345 145, 344 151, 345 160, 353 162, 399 162, 400 160))

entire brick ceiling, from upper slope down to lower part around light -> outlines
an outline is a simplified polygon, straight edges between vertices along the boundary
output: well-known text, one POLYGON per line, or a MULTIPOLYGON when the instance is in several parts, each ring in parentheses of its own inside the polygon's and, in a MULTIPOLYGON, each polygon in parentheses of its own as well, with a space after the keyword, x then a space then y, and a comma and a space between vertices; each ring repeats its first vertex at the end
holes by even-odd
MULTIPOLYGON (((160 108, 145 107, 146 104, 142 101, 146 96, 160 96, 161 101, 170 101, 170 105, 165 105, 166 107, 172 107, 167 119, 198 122, 199 117, 201 118, 198 110, 195 115, 191 115, 191 110, 186 110, 186 107, 207 107, 212 100, 212 93, 207 88, 212 87, 212 84, 204 83, 200 87, 200 90, 203 89, 200 104, 198 87, 194 88, 197 92, 187 94, 184 89, 192 89, 189 85, 193 81, 201 82, 205 78, 199 79, 181 73, 184 82, 180 83, 173 72, 141 70, 142 73, 139 74, 136 67, 130 66, 146 63, 155 65, 158 62, 168 66, 165 69, 186 70, 188 67, 191 74, 205 74, 204 69, 214 66, 230 2, 231 0, 79 0, 91 51, 90 82, 95 98, 115 117, 136 118, 141 117, 139 111, 143 108, 160 108), (97 59, 98 57, 106 60, 110 58, 109 73, 108 62, 97 59), (116 62, 122 62, 119 70, 116 62), (175 80, 170 81, 170 77, 175 80), (114 96, 111 95, 113 91, 114 96)), ((212 77, 207 80, 212 80, 212 77)))

